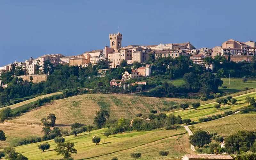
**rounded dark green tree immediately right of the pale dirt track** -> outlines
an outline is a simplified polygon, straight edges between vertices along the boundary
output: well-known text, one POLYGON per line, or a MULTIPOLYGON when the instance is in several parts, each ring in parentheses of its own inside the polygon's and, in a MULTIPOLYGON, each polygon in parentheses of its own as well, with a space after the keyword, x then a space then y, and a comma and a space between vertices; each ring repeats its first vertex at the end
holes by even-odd
POLYGON ((189 142, 196 147, 204 147, 211 142, 210 135, 205 131, 196 131, 194 135, 189 136, 189 142))

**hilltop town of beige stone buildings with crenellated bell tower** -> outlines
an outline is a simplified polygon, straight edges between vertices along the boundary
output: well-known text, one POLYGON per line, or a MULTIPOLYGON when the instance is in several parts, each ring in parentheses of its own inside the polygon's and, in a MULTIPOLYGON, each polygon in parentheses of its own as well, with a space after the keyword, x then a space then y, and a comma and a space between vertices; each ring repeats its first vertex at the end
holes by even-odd
MULTIPOLYGON (((199 48, 196 49, 190 42, 187 43, 171 43, 171 44, 156 44, 156 45, 128 45, 122 46, 123 35, 119 33, 109 34, 110 47, 105 46, 102 50, 87 51, 83 54, 64 56, 62 54, 46 54, 36 59, 32 57, 24 62, 13 62, 0 67, 0 76, 7 71, 10 71, 12 67, 22 68, 23 72, 20 75, 42 75, 49 74, 49 69, 44 69, 44 66, 56 67, 59 64, 69 64, 69 66, 81 66, 87 67, 89 64, 96 65, 100 60, 106 60, 109 62, 109 68, 116 68, 121 63, 132 64, 134 62, 144 63, 150 59, 150 56, 157 59, 158 57, 180 57, 187 56, 193 63, 204 67, 205 69, 213 70, 214 65, 206 64, 204 59, 206 57, 225 56, 229 57, 230 61, 242 62, 252 61, 256 55, 256 42, 239 42, 230 39, 223 42, 221 46, 213 48, 199 48)), ((100 48, 101 46, 99 46, 100 48)), ((146 65, 145 67, 133 68, 131 73, 125 72, 122 76, 122 80, 129 80, 139 76, 150 76, 151 66, 146 65)), ((40 78, 39 78, 40 80, 40 78)), ((44 80, 44 78, 42 79, 44 80)), ((112 83, 116 85, 113 80, 112 83)), ((121 80, 119 80, 121 81, 121 80)), ((7 84, 3 84, 0 80, 0 85, 4 88, 7 84)))

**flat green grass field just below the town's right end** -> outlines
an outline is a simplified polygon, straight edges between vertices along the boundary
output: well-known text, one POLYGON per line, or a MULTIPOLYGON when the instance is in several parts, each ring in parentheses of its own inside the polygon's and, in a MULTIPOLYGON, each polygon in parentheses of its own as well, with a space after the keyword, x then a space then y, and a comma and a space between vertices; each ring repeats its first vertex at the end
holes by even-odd
POLYGON ((229 84, 229 78, 221 78, 223 81, 222 86, 227 86, 227 89, 223 89, 222 87, 219 87, 219 90, 222 92, 240 92, 245 91, 245 87, 249 88, 256 88, 256 80, 248 80, 246 83, 242 81, 242 78, 230 78, 230 84, 229 84))

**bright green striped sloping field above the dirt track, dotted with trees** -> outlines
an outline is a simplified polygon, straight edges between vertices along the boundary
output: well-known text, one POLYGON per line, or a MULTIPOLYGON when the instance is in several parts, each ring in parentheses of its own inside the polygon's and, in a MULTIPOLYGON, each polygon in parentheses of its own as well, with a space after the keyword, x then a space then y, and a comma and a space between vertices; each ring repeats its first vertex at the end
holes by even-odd
MULTIPOLYGON (((256 92, 247 93, 247 94, 243 94, 243 95, 234 97, 237 99, 236 104, 232 105, 231 103, 228 103, 226 105, 226 111, 228 111, 228 110, 235 111, 241 107, 246 106, 247 103, 244 102, 244 98, 248 95, 255 97, 256 92)), ((219 110, 217 110, 216 108, 214 108, 214 104, 216 104, 216 102, 201 105, 199 108, 197 108, 197 110, 194 110, 194 108, 188 108, 184 111, 179 110, 179 111, 174 112, 174 115, 180 115, 182 119, 190 118, 192 121, 196 122, 196 121, 198 121, 199 118, 202 118, 202 117, 207 117, 207 116, 211 116, 211 115, 224 113, 225 107, 223 105, 221 106, 221 108, 219 110)), ((172 114, 172 112, 170 112, 168 114, 172 114)))

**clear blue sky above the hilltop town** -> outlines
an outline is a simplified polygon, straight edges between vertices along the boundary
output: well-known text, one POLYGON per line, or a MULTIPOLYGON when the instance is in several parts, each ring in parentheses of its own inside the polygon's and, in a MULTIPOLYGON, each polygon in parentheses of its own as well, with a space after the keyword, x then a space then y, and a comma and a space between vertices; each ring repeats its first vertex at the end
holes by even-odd
POLYGON ((201 48, 231 38, 256 41, 255 4, 254 0, 1 0, 0 66, 31 56, 103 49, 117 25, 122 46, 190 41, 201 48))

